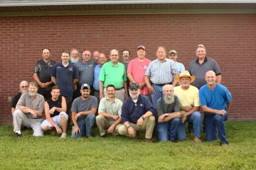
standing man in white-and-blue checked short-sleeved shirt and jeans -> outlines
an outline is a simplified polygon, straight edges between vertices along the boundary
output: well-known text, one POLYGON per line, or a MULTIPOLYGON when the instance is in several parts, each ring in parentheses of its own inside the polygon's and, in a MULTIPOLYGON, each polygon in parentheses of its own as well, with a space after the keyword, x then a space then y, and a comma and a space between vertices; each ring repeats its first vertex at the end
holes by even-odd
POLYGON ((154 108, 156 108, 156 101, 163 96, 163 86, 166 84, 176 86, 177 82, 174 77, 178 77, 176 64, 173 60, 166 59, 166 49, 164 47, 159 46, 157 48, 156 57, 157 59, 149 64, 144 77, 146 86, 151 93, 154 108))

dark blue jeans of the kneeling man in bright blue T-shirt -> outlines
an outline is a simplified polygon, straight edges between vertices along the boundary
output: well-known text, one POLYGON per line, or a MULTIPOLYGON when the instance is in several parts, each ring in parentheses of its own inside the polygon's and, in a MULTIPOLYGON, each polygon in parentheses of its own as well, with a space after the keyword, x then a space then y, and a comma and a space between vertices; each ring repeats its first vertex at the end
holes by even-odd
POLYGON ((225 121, 228 120, 228 113, 225 115, 219 114, 205 114, 205 130, 206 141, 210 142, 216 140, 216 128, 218 129, 218 137, 221 143, 228 143, 228 139, 225 133, 225 121))

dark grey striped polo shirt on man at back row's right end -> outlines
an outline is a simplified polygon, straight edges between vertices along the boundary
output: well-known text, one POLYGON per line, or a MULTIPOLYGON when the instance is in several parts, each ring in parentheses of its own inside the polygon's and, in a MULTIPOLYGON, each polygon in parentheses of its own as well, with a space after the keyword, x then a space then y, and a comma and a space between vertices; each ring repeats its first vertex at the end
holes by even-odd
POLYGON ((196 86, 198 89, 201 88, 201 86, 206 84, 206 72, 212 70, 215 72, 216 76, 220 75, 220 67, 218 67, 217 62, 215 60, 205 57, 203 60, 203 64, 199 63, 199 59, 192 60, 191 63, 188 66, 188 72, 191 74, 191 76, 196 77, 196 80, 193 81, 192 85, 196 86))

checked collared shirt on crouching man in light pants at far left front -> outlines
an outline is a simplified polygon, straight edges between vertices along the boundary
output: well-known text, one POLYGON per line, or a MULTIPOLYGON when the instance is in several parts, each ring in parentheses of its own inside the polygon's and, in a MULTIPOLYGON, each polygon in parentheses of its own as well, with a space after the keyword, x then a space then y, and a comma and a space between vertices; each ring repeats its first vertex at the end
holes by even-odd
MULTIPOLYGON (((27 108, 31 108, 35 111, 43 112, 44 108, 44 97, 41 94, 36 94, 35 98, 31 98, 28 93, 24 93, 21 95, 21 98, 18 100, 16 107, 25 106, 27 108)), ((26 114, 28 118, 32 118, 32 115, 26 114)), ((41 116, 37 116, 36 118, 41 118, 41 116)))

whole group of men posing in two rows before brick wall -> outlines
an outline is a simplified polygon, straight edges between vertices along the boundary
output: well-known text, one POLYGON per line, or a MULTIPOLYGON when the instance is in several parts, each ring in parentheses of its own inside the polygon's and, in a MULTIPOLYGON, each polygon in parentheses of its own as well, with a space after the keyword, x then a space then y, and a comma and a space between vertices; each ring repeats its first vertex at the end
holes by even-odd
POLYGON ((92 138, 96 123, 102 138, 107 133, 139 138, 139 131, 145 130, 145 141, 151 142, 156 127, 159 141, 177 142, 186 140, 188 122, 193 140, 201 142, 201 107, 206 141, 216 140, 217 128, 221 145, 228 144, 224 122, 232 97, 220 85, 220 68, 206 57, 203 45, 196 47, 198 58, 188 71, 176 61, 176 50, 166 58, 162 46, 153 61, 146 59, 144 45, 139 45, 133 60, 129 50, 123 50, 123 63, 118 62, 117 50, 110 51, 110 62, 98 51, 92 55, 91 59, 91 52, 85 50, 80 58, 80 52, 72 49, 63 51, 61 62, 55 63, 50 50, 43 49, 43 60, 36 62, 33 72, 35 81, 21 81, 21 93, 12 103, 16 137, 24 125, 33 129, 34 136, 56 130, 65 138, 72 120, 74 138, 92 138))

